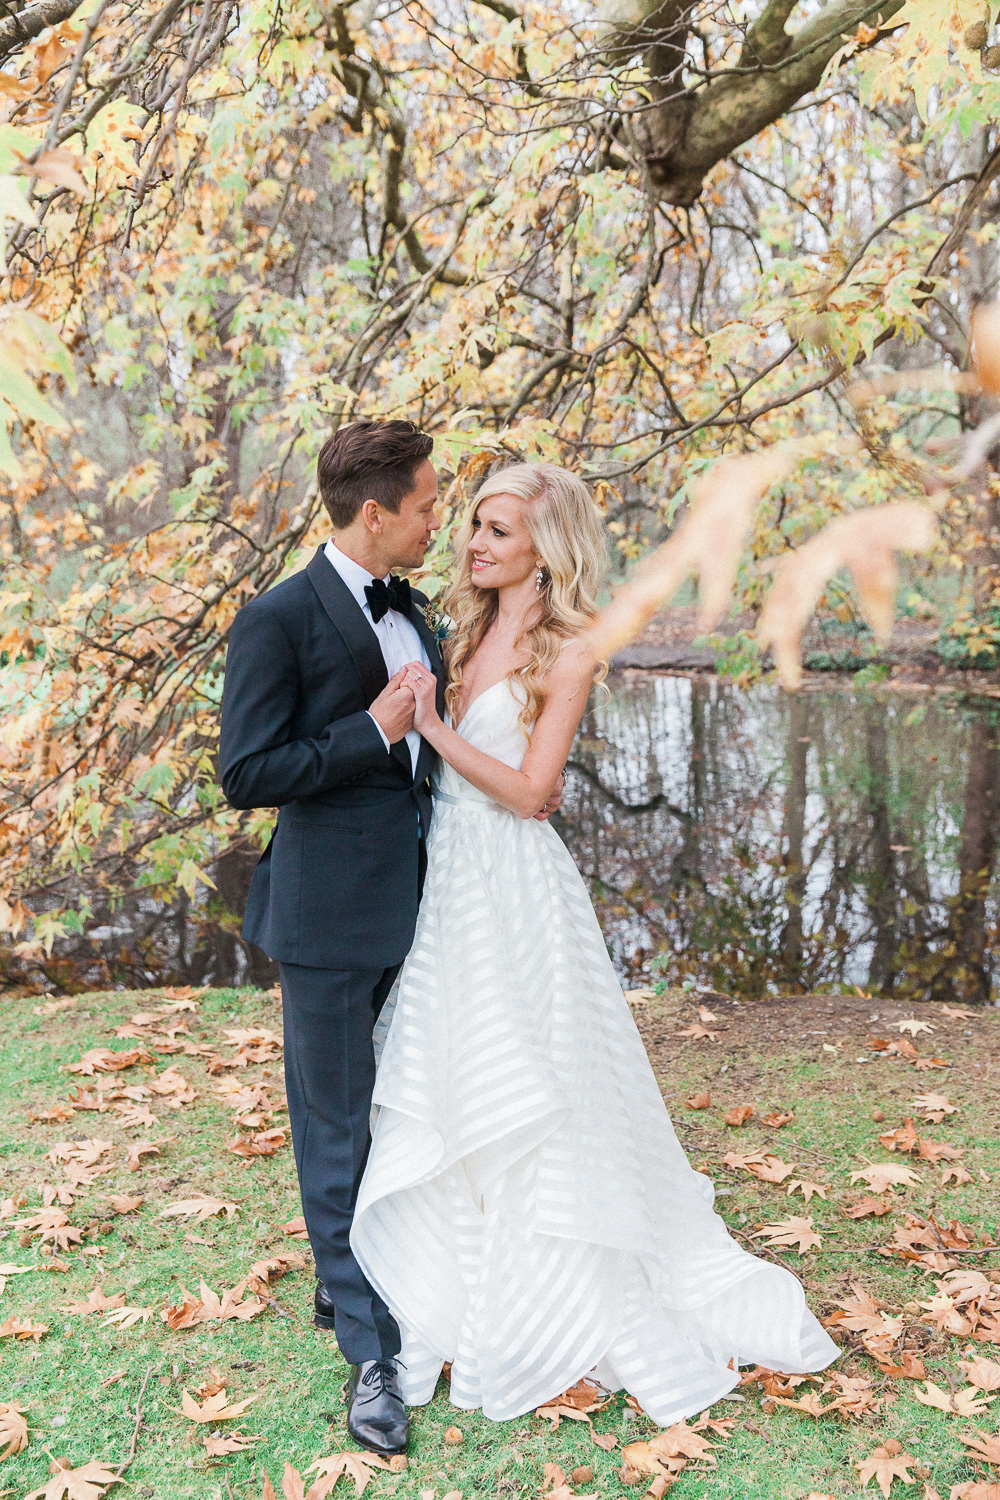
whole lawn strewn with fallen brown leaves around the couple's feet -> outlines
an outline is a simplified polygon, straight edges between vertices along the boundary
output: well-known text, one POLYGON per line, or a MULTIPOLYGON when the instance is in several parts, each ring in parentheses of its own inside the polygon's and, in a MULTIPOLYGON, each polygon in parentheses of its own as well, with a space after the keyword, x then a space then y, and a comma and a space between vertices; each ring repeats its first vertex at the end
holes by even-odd
MULTIPOLYGON (((706 1004, 714 1018, 678 990, 639 994, 636 1016, 678 1132, 714 1178, 733 1232, 790 1266, 822 1316, 855 1296, 852 1284, 880 1304, 852 1308, 850 1326, 837 1330, 835 1380, 823 1390, 763 1374, 709 1413, 732 1425, 703 1426, 694 1440, 675 1434, 675 1449, 706 1456, 681 1467, 666 1443, 667 1473, 658 1479, 624 1461, 622 1448, 657 1430, 622 1396, 591 1420, 564 1418, 558 1428, 534 1413, 490 1424, 456 1412, 442 1383, 435 1401, 412 1413, 408 1467, 375 1470, 369 1496, 469 1500, 546 1488, 559 1500, 639 1497, 648 1486, 661 1494, 675 1479, 676 1500, 852 1497, 865 1492, 858 1466, 886 1443, 891 1456, 901 1444, 895 1467, 912 1480, 886 1476, 892 1497, 1000 1496, 987 1490, 988 1480, 1000 1484, 1000 1446, 985 1444, 997 1458, 991 1467, 961 1442, 975 1428, 996 1432, 1000 1420, 991 1389, 1000 1386, 1000 1348, 988 1336, 1000 1338, 1000 1011, 967 1017, 918 1006, 916 1022, 933 1030, 900 1030, 913 1011, 877 998, 706 1004), (882 1047, 873 1047, 876 1038, 882 1047), (928 1066, 933 1059, 948 1066, 928 1066), (705 1092, 706 1107, 685 1102, 703 1102, 705 1092), (945 1106, 913 1102, 928 1095, 943 1095, 945 1106), (745 1124, 726 1124, 747 1106, 745 1124), (933 1113, 943 1118, 934 1122, 933 1113), (909 1118, 913 1131, 904 1128, 909 1118), (873 1167, 909 1168, 910 1178, 877 1191, 874 1172, 874 1188, 852 1185, 852 1173, 873 1167), (945 1184, 952 1168, 969 1180, 945 1184), (789 1196, 793 1182, 819 1184, 826 1197, 807 1203, 801 1188, 789 1196), (865 1196, 889 1210, 847 1216, 865 1196), (762 1224, 792 1216, 811 1221, 798 1228, 813 1248, 768 1248, 780 1232, 753 1238, 762 1224), (898 1256, 879 1252, 894 1240, 898 1256), (546 1464, 561 1467, 567 1490, 552 1470, 546 1479, 546 1464), (580 1468, 591 1478, 571 1478, 580 1468)), ((193 1000, 184 992, 70 1002, 22 996, 7 999, 6 1012, 0 1400, 22 1408, 28 1442, 0 1462, 0 1494, 19 1500, 48 1485, 54 1461, 117 1472, 133 1455, 123 1478, 145 1500, 262 1500, 265 1474, 280 1496, 286 1464, 304 1473, 345 1448, 346 1371, 331 1336, 312 1328, 309 1246, 288 1232, 300 1209, 280 1108, 277 998, 250 990, 210 990, 193 1000), (108 1064, 124 1058, 109 1052, 136 1056, 117 1068, 108 1064), (150 1143, 156 1149, 141 1149, 150 1143), (219 1210, 213 1203, 198 1210, 192 1198, 214 1200, 219 1210), (163 1216, 178 1203, 184 1212, 163 1216), (264 1268, 226 1302, 255 1263, 289 1256, 283 1275, 280 1264, 264 1268), (100 1298, 91 1300, 106 1305, 81 1310, 94 1287, 100 1298), (114 1305, 121 1293, 124 1308, 114 1305), (219 1317, 234 1306, 238 1316, 219 1317), (249 1402, 241 1414, 196 1424, 183 1413, 183 1404, 217 1407, 220 1389, 229 1404, 249 1402), (219 1452, 234 1431, 247 1446, 219 1452)), ((297 1494, 292 1476, 286 1492, 297 1494)), ((354 1492, 351 1474, 340 1478, 334 1497, 354 1492)), ((877 1494, 876 1479, 867 1492, 877 1494)))

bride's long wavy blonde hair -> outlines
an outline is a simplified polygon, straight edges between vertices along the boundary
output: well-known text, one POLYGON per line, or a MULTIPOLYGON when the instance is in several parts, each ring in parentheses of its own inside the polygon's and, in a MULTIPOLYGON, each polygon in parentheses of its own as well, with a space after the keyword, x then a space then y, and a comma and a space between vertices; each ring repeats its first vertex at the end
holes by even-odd
MULTIPOLYGON (((453 720, 462 699, 465 668, 496 620, 496 590, 478 588, 472 582, 469 554, 472 522, 490 495, 513 495, 526 502, 525 525, 543 561, 538 591, 541 618, 526 633, 528 664, 519 672, 526 694, 519 717, 528 729, 541 712, 544 678, 564 642, 579 636, 597 614, 597 591, 607 567, 607 550, 591 492, 576 474, 555 464, 511 464, 484 482, 459 531, 459 572, 442 602, 445 615, 454 621, 447 645, 445 693, 453 720)), ((607 666, 601 664, 595 678, 600 681, 606 670, 607 666)))

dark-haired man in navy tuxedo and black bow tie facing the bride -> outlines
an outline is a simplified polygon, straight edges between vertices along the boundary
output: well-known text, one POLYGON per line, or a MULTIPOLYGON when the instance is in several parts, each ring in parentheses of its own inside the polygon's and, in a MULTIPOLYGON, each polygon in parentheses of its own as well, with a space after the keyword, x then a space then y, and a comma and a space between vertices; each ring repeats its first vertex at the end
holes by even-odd
POLYGON ((417 922, 433 752, 412 728, 403 669, 444 668, 423 596, 393 568, 423 562, 441 522, 432 440, 409 422, 354 422, 319 453, 334 537, 232 622, 222 788, 277 807, 243 936, 280 964, 295 1168, 316 1258, 316 1326, 351 1365, 348 1431, 406 1448, 399 1329, 351 1252, 369 1149, 372 1028, 417 922))

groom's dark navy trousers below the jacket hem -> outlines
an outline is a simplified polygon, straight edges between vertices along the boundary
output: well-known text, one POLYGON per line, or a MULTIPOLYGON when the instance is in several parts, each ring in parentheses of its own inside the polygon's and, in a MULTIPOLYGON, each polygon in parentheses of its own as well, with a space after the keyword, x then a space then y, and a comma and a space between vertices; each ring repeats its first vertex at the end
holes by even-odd
POLYGON ((399 1329, 351 1250, 351 1221, 370 1144, 372 1029, 397 972, 399 964, 280 964, 285 1088, 303 1215, 349 1365, 399 1353, 399 1329))

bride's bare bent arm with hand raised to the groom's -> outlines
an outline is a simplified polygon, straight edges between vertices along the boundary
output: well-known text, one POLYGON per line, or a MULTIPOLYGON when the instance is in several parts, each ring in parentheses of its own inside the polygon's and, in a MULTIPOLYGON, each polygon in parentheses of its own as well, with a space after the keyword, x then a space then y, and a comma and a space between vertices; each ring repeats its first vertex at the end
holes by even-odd
POLYGON ((583 717, 591 692, 594 658, 585 646, 565 646, 559 660, 546 675, 546 700, 531 736, 520 770, 504 765, 484 750, 477 750, 450 729, 435 706, 435 680, 427 669, 408 669, 406 686, 412 688, 417 710, 414 728, 433 746, 442 760, 459 776, 502 802, 520 818, 534 818, 544 806, 565 765, 577 724, 583 717))

